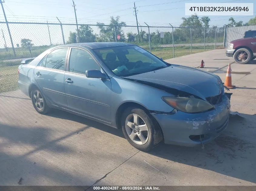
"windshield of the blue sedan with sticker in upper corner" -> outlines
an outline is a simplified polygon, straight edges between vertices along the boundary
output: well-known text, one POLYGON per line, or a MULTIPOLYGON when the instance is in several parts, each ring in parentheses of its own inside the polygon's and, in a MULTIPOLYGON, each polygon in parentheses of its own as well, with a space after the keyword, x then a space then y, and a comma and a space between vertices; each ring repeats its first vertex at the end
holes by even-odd
POLYGON ((168 67, 165 62, 138 46, 94 49, 94 52, 115 75, 120 77, 168 67))

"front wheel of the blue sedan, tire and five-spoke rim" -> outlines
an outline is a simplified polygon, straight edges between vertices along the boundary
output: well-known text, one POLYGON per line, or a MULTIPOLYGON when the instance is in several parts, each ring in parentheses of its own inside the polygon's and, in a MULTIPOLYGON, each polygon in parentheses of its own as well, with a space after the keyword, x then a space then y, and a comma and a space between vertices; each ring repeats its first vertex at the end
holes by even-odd
POLYGON ((121 117, 121 124, 125 138, 138 150, 149 151, 163 139, 160 127, 140 108, 127 108, 121 117))

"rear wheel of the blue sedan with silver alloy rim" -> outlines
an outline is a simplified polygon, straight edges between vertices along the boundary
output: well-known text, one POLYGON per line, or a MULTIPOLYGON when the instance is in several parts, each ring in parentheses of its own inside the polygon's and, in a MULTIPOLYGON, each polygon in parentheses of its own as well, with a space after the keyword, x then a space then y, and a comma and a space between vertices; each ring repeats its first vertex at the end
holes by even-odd
POLYGON ((31 91, 31 100, 35 110, 40 114, 46 114, 50 111, 42 92, 38 88, 31 91))

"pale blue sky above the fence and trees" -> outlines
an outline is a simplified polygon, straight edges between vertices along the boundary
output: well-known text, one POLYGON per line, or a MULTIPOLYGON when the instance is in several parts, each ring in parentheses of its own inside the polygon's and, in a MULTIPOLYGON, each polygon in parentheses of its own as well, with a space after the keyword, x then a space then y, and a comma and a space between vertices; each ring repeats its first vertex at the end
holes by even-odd
MULTIPOLYGON (((2 0, 3 1, 3 0, 2 0)), ((136 18, 134 13, 134 2, 131 0, 74 0, 78 23, 96 24, 102 22, 109 24, 111 16, 120 16, 120 21, 127 25, 135 26, 136 18)), ((255 0, 211 0, 210 3, 253 3, 255 0)), ((171 32, 171 28, 159 26, 178 27, 182 17, 185 16, 185 3, 205 3, 205 0, 135 0, 138 10, 138 23, 145 26, 158 26, 150 28, 150 32, 156 30, 171 32), (145 22, 145 23, 144 23, 145 22)), ((75 12, 72 7, 72 0, 5 0, 3 3, 5 14, 9 22, 45 22, 58 23, 56 17, 62 23, 75 24, 75 12)), ((247 22, 255 17, 256 3, 254 3, 254 16, 233 16, 236 21, 247 22)), ((1 8, 0 8, 1 9, 1 8)), ((201 16, 199 16, 201 17, 201 16)), ((210 16, 210 27, 213 25, 222 27, 228 23, 231 16, 210 16)), ((5 21, 2 10, 0 10, 0 21, 5 21)), ((47 24, 9 24, 12 40, 15 47, 20 46, 22 38, 31 39, 35 46, 62 44, 62 33, 60 25, 47 24), (49 34, 50 33, 50 34, 49 34), (51 41, 50 41, 51 39, 51 41)), ((0 23, 3 30, 6 44, 11 47, 11 41, 5 23, 0 23)), ((99 34, 97 26, 91 26, 94 34, 99 34)), ((128 32, 137 33, 137 27, 123 27, 125 34, 128 32)), ((140 30, 148 31, 148 28, 141 27, 140 30)), ((186 29, 184 29, 186 30, 186 29)), ((189 29, 188 29, 189 30, 189 29)), ((68 41, 69 33, 76 31, 76 25, 63 25, 65 43, 68 41)), ((2 32, 2 31, 1 31, 2 32)), ((193 37, 192 37, 193 38, 193 37)), ((0 48, 4 48, 4 38, 0 38, 0 48)))

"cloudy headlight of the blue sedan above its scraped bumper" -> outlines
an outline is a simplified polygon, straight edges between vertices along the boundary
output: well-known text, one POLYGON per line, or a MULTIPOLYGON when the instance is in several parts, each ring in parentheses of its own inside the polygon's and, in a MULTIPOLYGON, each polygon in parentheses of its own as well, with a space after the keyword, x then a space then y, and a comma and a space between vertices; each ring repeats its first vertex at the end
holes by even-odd
POLYGON ((197 98, 162 97, 162 100, 164 100, 165 103, 169 104, 171 107, 185 113, 198 113, 213 108, 210 103, 197 98))

